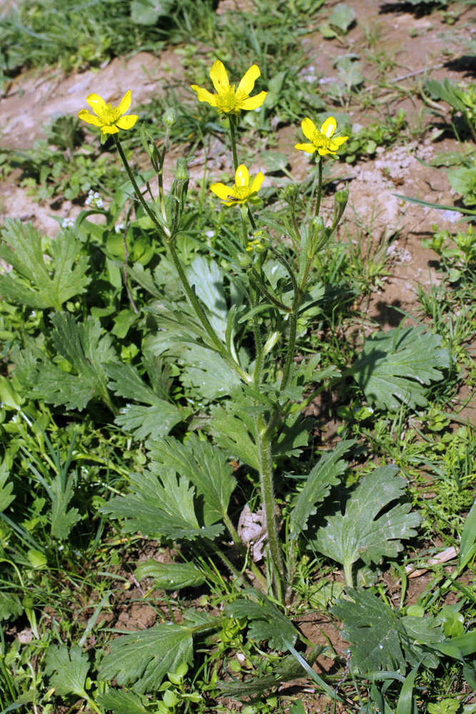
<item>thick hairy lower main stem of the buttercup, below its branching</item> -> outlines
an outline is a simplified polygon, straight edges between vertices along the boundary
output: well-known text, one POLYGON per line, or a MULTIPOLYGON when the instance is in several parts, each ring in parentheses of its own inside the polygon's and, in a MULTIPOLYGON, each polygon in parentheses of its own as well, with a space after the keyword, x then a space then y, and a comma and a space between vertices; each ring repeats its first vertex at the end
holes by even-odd
POLYGON ((255 419, 256 446, 260 463, 260 491, 265 511, 268 546, 272 563, 273 591, 275 598, 284 604, 284 565, 281 554, 278 528, 275 517, 275 496, 273 484, 273 453, 270 441, 270 424, 265 424, 262 416, 255 419))

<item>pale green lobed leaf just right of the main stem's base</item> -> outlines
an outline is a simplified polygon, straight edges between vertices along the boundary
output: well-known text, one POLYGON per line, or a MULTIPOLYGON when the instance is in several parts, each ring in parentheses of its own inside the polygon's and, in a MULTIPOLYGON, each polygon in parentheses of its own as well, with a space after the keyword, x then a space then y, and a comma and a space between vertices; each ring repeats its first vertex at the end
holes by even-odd
POLYGON ((416 535, 413 528, 420 516, 408 513, 410 503, 394 506, 378 517, 405 492, 405 479, 396 476, 397 471, 397 466, 380 466, 364 476, 350 492, 345 513, 326 518, 313 540, 313 547, 342 563, 346 574, 359 558, 366 565, 381 563, 384 556, 395 558, 402 550, 400 539, 416 535))

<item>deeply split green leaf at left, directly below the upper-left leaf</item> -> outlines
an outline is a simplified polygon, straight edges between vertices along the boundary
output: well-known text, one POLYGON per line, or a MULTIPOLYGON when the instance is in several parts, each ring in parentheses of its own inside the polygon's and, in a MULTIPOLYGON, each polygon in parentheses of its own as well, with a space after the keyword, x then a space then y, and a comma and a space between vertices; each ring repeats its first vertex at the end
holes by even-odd
POLYGON ((21 353, 20 365, 16 365, 19 378, 29 383, 35 396, 40 395, 55 406, 82 411, 91 399, 98 397, 108 403, 103 363, 116 361, 111 337, 103 333, 101 324, 91 316, 76 323, 70 313, 54 313, 51 322, 54 353, 63 356, 76 373, 63 371, 49 358, 36 360, 30 348, 21 353))

